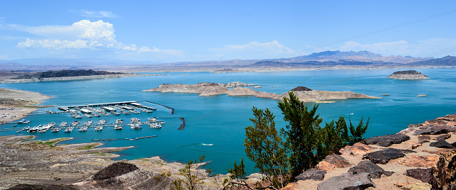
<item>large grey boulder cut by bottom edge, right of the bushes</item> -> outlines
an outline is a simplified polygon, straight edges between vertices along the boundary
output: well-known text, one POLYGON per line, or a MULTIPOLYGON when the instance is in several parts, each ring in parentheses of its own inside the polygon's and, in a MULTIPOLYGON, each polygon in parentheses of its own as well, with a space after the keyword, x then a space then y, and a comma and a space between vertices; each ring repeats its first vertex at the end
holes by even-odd
POLYGON ((374 187, 374 183, 370 180, 368 173, 360 174, 341 174, 336 177, 331 177, 326 179, 326 181, 318 184, 318 190, 357 190, 357 189, 367 189, 369 187, 374 187))

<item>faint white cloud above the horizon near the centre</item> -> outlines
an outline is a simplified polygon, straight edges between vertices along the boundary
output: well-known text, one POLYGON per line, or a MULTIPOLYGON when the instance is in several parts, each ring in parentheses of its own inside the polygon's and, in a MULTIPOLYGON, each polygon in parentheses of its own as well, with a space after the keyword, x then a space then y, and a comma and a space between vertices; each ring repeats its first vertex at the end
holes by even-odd
POLYGON ((244 45, 223 45, 208 49, 216 52, 217 57, 223 59, 226 57, 237 59, 265 59, 272 57, 282 57, 294 53, 294 50, 280 44, 277 40, 267 43, 250 42, 244 45))

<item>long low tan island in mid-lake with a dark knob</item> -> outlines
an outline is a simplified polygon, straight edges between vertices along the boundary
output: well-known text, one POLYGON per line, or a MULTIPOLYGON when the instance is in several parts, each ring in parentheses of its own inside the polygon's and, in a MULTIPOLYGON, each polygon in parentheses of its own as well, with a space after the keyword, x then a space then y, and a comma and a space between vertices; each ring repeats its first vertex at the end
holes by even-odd
MULTIPOLYGON (((257 86, 255 84, 245 84, 243 82, 231 82, 228 84, 221 83, 198 83, 198 84, 162 84, 157 88, 152 88, 143 91, 160 91, 160 92, 178 92, 178 93, 194 93, 199 96, 216 96, 227 94, 227 96, 255 96, 257 98, 282 100, 288 93, 274 94, 269 92, 260 92, 255 89, 246 88, 243 86, 257 86), (233 89, 230 89, 233 88, 233 89)), ((255 87, 254 87, 255 88, 255 87)), ((341 99, 382 99, 375 96, 367 96, 351 91, 318 91, 308 89, 304 86, 298 86, 294 89, 294 94, 304 102, 318 103, 333 103, 334 101, 326 100, 341 100, 341 99)))

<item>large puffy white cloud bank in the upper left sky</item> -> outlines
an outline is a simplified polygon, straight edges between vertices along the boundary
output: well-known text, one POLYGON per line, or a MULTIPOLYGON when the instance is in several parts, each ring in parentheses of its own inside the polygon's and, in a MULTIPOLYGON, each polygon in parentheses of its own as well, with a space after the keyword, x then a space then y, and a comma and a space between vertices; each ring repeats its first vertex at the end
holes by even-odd
POLYGON ((21 26, 0 25, 0 28, 8 30, 20 30, 38 35, 44 39, 30 39, 19 42, 16 47, 36 48, 46 50, 123 50, 136 52, 153 57, 182 57, 181 50, 160 50, 157 47, 143 46, 138 48, 135 44, 125 45, 116 40, 116 30, 113 24, 104 21, 91 22, 88 20, 78 21, 71 26, 21 26))

